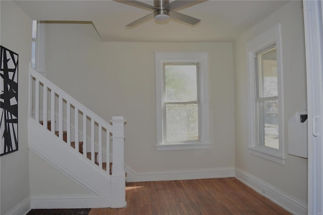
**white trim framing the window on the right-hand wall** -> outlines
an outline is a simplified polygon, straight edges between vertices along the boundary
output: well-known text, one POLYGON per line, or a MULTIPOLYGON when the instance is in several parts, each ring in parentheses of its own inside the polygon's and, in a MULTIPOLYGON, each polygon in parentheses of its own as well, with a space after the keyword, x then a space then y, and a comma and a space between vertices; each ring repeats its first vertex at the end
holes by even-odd
POLYGON ((272 160, 273 162, 285 165, 285 138, 284 138, 284 98, 283 98, 283 64, 282 64, 282 37, 281 24, 276 24, 271 29, 261 33, 247 43, 248 71, 249 71, 249 152, 253 155, 272 160), (278 118, 279 118, 279 149, 262 146, 256 138, 256 71, 255 53, 265 47, 276 43, 277 53, 277 76, 278 76, 278 118))

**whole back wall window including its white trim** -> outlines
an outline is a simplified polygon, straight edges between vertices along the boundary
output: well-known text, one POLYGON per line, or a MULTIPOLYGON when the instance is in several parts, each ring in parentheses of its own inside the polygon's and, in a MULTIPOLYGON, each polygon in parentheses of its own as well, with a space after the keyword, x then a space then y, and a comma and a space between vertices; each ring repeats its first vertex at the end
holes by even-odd
POLYGON ((207 54, 155 52, 157 150, 205 149, 207 54))

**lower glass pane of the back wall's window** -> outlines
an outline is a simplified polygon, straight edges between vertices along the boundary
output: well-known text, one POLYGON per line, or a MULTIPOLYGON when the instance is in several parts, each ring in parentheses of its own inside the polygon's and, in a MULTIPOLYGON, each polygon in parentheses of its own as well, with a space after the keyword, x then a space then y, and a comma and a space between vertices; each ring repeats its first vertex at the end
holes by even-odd
POLYGON ((198 105, 166 105, 166 141, 198 140, 198 105))

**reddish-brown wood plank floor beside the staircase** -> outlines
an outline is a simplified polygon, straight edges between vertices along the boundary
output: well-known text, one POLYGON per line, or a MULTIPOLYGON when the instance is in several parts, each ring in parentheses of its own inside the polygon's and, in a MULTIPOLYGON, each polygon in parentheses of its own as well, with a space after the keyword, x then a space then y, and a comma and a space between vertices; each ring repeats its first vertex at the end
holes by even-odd
POLYGON ((127 183, 126 208, 89 215, 291 214, 236 178, 127 183))

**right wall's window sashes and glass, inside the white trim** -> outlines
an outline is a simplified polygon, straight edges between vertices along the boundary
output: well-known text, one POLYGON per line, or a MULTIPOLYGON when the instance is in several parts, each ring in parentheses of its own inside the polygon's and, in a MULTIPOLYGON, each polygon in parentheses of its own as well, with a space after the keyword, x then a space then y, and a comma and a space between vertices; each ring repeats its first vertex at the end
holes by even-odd
POLYGON ((255 55, 257 134, 259 145, 279 149, 276 44, 255 55))

